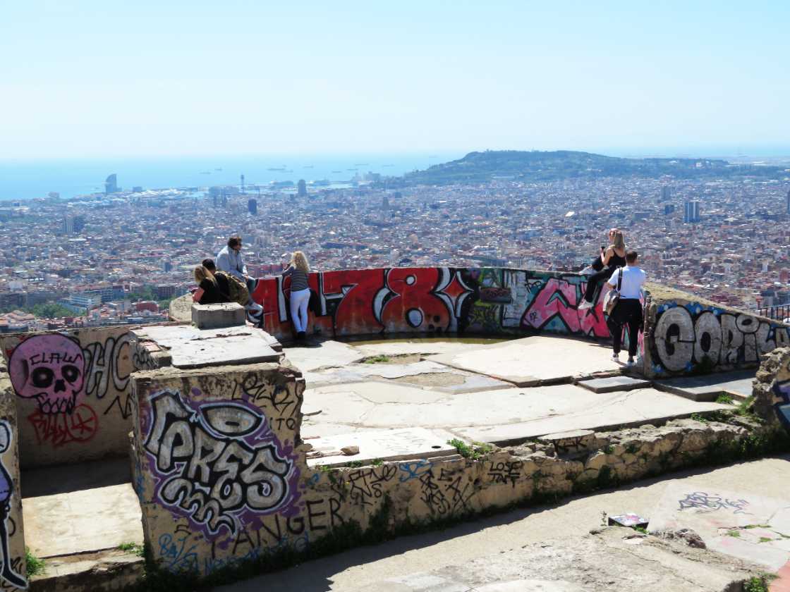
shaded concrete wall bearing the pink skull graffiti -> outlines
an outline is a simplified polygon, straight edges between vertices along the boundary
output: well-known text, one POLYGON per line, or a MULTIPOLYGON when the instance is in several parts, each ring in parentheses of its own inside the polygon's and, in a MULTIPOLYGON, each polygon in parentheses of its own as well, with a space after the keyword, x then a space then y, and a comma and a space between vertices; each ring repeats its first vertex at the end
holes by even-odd
POLYGON ((134 345, 126 327, 2 340, 16 394, 23 466, 126 454, 134 345))

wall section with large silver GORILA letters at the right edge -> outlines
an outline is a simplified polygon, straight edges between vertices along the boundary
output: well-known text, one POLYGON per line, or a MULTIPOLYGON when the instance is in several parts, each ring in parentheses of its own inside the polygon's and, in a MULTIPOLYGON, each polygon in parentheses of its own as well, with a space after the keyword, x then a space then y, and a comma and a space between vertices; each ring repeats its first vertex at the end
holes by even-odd
POLYGON ((647 317, 649 376, 754 366, 762 354, 790 345, 783 323, 691 299, 653 302, 647 317))

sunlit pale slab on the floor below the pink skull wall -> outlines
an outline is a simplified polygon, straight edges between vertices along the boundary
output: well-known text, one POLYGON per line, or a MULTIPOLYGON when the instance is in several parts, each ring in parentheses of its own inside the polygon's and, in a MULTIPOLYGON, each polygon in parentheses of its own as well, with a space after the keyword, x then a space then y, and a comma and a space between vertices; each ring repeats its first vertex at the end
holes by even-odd
POLYGON ((140 502, 130 483, 25 497, 24 541, 39 557, 141 544, 140 502))

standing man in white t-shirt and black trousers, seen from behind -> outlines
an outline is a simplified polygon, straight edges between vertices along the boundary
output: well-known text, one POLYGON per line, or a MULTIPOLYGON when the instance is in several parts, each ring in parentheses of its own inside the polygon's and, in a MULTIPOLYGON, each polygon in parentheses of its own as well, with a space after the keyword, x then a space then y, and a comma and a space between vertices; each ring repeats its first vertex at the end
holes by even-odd
POLYGON ((634 365, 634 356, 637 354, 637 340, 639 330, 642 326, 642 310, 639 297, 641 287, 645 283, 645 272, 638 265, 638 253, 636 251, 626 252, 626 267, 619 268, 608 280, 610 287, 617 289, 620 284, 620 298, 611 311, 606 324, 611 333, 612 349, 614 354, 611 359, 619 362, 620 341, 623 337, 623 325, 628 325, 628 363, 634 365), (620 275, 622 274, 622 279, 620 275))

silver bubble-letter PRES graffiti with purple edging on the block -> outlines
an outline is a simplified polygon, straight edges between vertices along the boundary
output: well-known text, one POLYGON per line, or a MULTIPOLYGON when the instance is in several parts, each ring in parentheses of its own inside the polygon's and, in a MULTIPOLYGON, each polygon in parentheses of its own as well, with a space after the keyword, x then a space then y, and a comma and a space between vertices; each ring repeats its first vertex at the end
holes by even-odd
POLYGON ((162 504, 207 536, 234 534, 255 515, 282 511, 297 495, 295 461, 260 411, 242 401, 194 403, 152 396, 145 439, 162 504))

